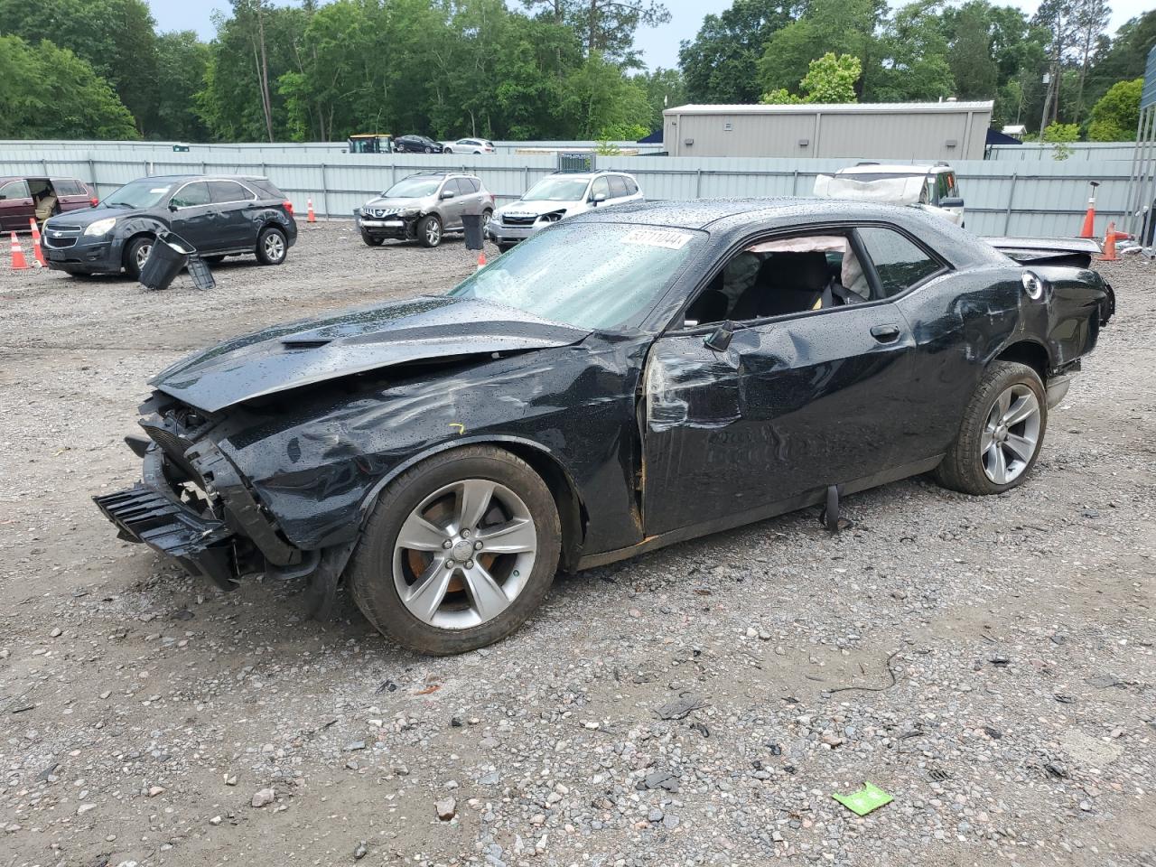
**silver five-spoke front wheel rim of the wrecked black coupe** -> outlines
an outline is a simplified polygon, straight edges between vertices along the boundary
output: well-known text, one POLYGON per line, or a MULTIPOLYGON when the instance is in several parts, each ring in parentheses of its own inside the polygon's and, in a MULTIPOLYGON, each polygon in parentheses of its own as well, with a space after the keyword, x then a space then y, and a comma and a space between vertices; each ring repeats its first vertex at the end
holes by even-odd
POLYGON ((538 556, 538 529, 504 484, 466 479, 430 494, 406 518, 393 547, 393 581, 423 623, 469 629, 521 593, 538 556))

